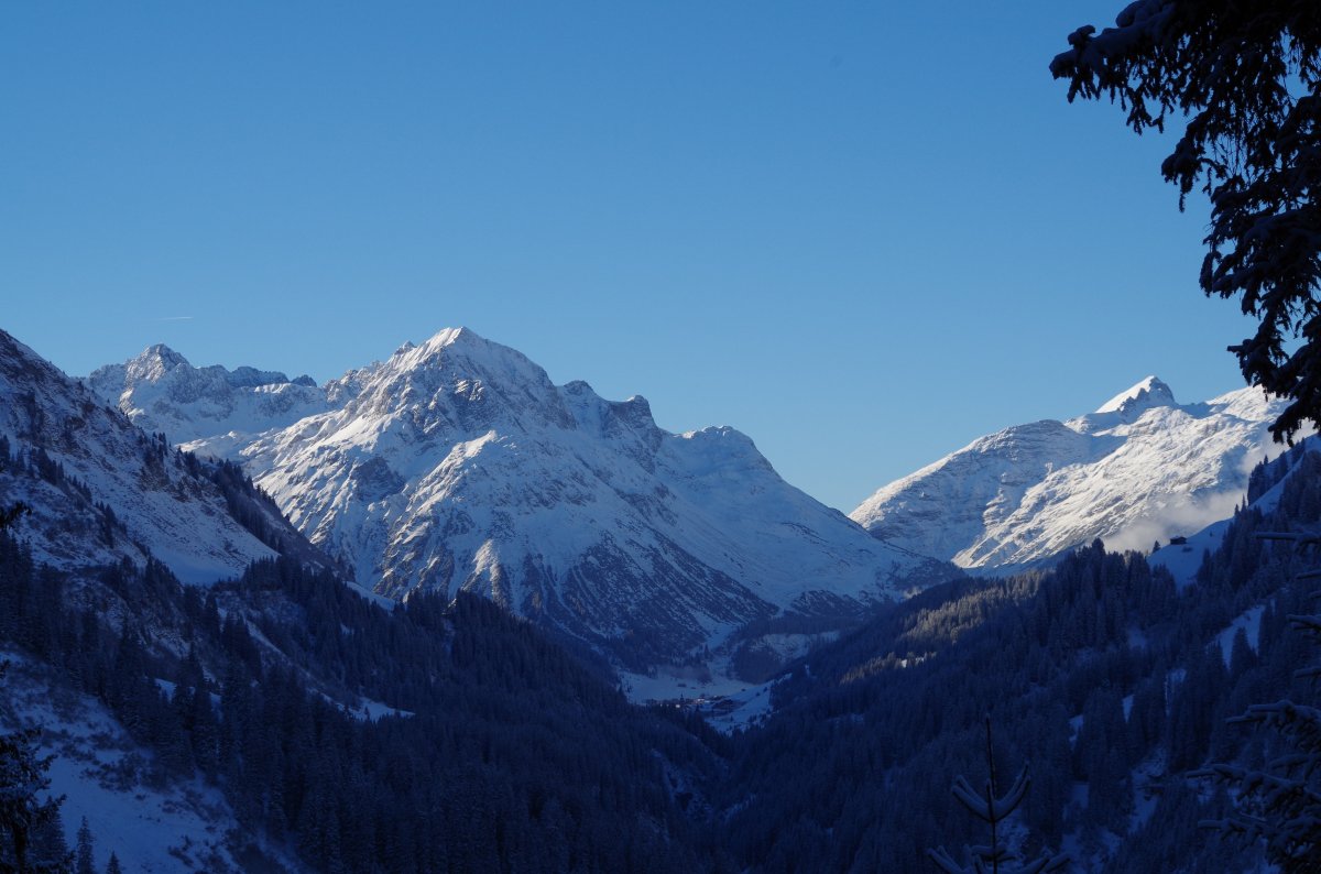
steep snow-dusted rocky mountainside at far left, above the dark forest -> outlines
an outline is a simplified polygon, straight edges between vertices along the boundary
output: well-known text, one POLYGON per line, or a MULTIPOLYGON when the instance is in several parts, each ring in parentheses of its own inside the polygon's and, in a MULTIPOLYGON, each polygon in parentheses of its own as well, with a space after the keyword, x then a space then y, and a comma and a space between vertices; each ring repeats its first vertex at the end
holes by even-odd
POLYGON ((34 556, 61 568, 143 565, 214 582, 299 539, 273 507, 135 428, 85 386, 0 331, 0 503, 26 503, 34 556), (246 515, 248 525, 235 514, 246 515))

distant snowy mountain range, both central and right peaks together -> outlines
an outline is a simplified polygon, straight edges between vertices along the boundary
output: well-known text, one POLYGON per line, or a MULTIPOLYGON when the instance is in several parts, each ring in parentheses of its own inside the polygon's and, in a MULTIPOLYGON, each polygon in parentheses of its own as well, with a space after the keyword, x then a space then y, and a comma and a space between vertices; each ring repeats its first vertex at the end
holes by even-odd
POLYGON ((664 432, 645 399, 555 386, 468 329, 325 386, 165 346, 83 383, 169 444, 239 463, 359 585, 478 591, 637 668, 749 624, 819 631, 955 576, 945 562, 1004 572, 1197 531, 1242 500, 1277 412, 1256 389, 1181 405, 1148 378, 1092 413, 976 440, 851 521, 746 436, 664 432))

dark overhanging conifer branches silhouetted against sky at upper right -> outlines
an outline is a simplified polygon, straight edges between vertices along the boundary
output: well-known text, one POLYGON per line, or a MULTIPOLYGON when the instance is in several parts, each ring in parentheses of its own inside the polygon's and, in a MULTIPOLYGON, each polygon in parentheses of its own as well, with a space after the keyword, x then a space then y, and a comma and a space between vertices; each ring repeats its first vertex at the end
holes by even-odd
POLYGON ((1288 440, 1321 424, 1321 4, 1139 0, 1115 25, 1075 30, 1050 71, 1070 100, 1118 99, 1137 133, 1186 116, 1161 173, 1180 207, 1210 198, 1201 286, 1259 319, 1230 351, 1291 399, 1271 426, 1288 440))

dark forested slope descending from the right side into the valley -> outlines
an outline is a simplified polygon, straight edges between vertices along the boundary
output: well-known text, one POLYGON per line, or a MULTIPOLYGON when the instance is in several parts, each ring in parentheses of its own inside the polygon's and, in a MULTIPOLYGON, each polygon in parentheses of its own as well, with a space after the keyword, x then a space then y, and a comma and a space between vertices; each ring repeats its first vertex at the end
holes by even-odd
POLYGON ((1258 535, 1318 529, 1321 453, 1296 446, 1251 479, 1251 504, 1193 548, 1185 585, 1159 566, 1189 555, 1182 544, 1151 564, 1087 545, 1044 573, 933 588, 812 651, 740 738, 716 805, 736 861, 918 871, 933 846, 985 841, 948 787, 984 779, 991 714, 999 772, 1030 764, 1000 832, 1024 861, 1045 846, 1070 853, 1073 871, 1275 870, 1263 841, 1205 828, 1236 804, 1260 817, 1256 799, 1196 771, 1277 775, 1268 762, 1300 758, 1279 723, 1231 717, 1316 702, 1297 677, 1317 651, 1291 622, 1314 613, 1314 581, 1300 577, 1314 552, 1258 535))

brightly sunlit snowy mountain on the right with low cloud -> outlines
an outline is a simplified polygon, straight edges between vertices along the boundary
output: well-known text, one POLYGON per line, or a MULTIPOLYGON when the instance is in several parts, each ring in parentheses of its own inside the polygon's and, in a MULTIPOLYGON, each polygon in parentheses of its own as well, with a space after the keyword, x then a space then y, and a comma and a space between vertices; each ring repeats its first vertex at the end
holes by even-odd
POLYGON ((975 440, 849 515, 968 569, 1032 565, 1096 537, 1151 549, 1232 512, 1280 408, 1256 388, 1181 405, 1149 376, 1094 413, 975 440))

